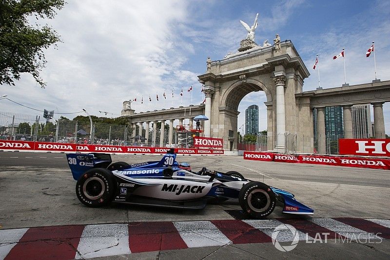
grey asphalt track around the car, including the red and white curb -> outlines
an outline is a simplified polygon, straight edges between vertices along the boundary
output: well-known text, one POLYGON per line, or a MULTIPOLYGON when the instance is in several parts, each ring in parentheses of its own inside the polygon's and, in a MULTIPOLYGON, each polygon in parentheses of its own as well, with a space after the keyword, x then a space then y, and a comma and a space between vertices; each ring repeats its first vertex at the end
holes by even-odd
MULTIPOLYGON (((161 156, 112 158, 137 163, 161 156)), ((65 154, 0 152, 0 260, 390 258, 389 171, 239 156, 178 155, 177 161, 191 163, 193 170, 235 170, 290 191, 314 209, 313 218, 282 214, 277 207, 267 220, 235 220, 228 214, 240 209, 234 200, 195 211, 115 203, 87 208, 76 197, 65 154), (280 223, 302 232, 290 252, 277 250, 270 240, 280 223), (314 231, 352 239, 312 243, 314 231), (353 240, 353 234, 367 237, 367 232, 381 235, 370 242, 353 240)), ((292 244, 291 238, 284 241, 292 244)))

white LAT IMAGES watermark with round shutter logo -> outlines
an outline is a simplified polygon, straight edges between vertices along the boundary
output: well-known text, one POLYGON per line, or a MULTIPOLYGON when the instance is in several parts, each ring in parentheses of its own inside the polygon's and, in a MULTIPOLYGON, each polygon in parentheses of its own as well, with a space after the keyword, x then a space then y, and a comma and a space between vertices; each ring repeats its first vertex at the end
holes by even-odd
POLYGON ((339 233, 316 233, 314 236, 310 236, 308 233, 301 233, 299 237, 299 232, 292 225, 281 224, 275 227, 271 234, 272 243, 275 248, 282 252, 289 252, 293 250, 297 245, 299 240, 302 240, 305 243, 361 243, 361 244, 371 244, 371 243, 381 243, 382 238, 380 237, 382 233, 368 233, 368 232, 339 232, 339 233), (333 234, 331 236, 331 234, 333 234), (304 236, 302 236, 304 235, 304 236))

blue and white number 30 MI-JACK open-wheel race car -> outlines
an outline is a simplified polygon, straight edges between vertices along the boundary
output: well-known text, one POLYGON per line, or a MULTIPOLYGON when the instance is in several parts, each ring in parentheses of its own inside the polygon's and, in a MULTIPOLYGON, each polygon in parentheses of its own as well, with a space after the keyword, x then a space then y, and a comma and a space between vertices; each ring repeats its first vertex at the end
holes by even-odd
POLYGON ((174 149, 160 161, 128 164, 112 163, 109 154, 67 154, 73 178, 77 180, 78 199, 90 207, 110 202, 202 209, 207 202, 238 199, 243 212, 251 218, 270 215, 280 203, 283 213, 313 214, 308 206, 295 200, 290 192, 259 181, 245 179, 238 172, 199 172, 182 169, 190 166, 176 161, 174 149), (180 167, 179 167, 180 165, 180 167))

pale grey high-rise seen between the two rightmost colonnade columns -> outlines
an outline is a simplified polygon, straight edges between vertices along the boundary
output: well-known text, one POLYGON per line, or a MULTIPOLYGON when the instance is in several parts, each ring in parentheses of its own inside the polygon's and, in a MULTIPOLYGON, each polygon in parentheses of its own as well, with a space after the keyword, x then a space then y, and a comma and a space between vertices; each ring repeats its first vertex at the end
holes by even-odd
POLYGON ((370 104, 351 106, 352 114, 352 137, 370 138, 372 137, 370 104))

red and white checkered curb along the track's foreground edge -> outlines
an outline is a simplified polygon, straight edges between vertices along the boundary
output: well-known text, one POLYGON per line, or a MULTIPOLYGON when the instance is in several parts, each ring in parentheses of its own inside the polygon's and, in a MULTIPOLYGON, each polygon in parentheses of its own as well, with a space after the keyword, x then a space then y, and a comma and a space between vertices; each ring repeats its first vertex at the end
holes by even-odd
MULTIPOLYGON (((390 240, 390 220, 358 218, 68 225, 0 230, 0 260, 67 260, 190 247, 266 243, 272 241, 274 228, 282 223, 295 227, 300 240, 313 240, 316 233, 329 233, 328 239, 380 233, 380 238, 390 240)), ((284 240, 292 241, 292 237, 284 240)))

